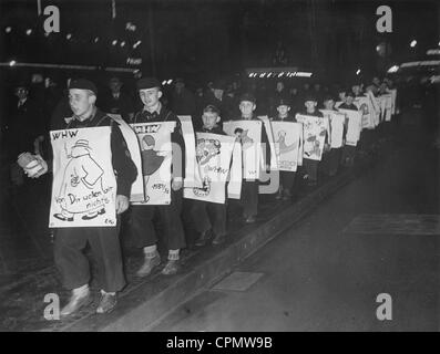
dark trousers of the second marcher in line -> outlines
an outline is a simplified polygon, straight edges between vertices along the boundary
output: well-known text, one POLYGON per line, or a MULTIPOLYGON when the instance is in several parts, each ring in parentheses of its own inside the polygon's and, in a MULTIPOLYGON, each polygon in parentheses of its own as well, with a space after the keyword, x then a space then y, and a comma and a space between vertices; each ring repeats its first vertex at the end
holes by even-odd
POLYGON ((177 250, 186 247, 181 219, 181 201, 182 190, 173 190, 170 205, 132 206, 130 223, 135 246, 142 248, 157 243, 157 233, 153 225, 153 217, 157 211, 164 230, 164 244, 167 249, 177 250))

